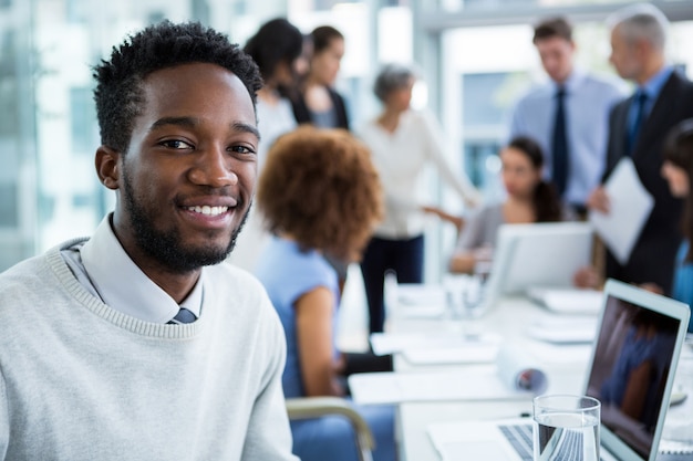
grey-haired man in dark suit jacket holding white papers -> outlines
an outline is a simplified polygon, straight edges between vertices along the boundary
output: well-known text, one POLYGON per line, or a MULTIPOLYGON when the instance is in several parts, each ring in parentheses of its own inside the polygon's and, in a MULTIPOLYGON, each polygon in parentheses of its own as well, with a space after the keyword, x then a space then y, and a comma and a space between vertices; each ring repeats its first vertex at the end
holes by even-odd
MULTIPOLYGON (((682 202, 671 195, 661 176, 662 145, 676 123, 693 116, 693 84, 666 64, 668 24, 661 11, 651 4, 637 4, 620 10, 612 19, 610 61, 619 75, 633 81, 638 88, 611 112, 602 182, 621 158, 630 156, 654 207, 624 264, 607 251, 606 275, 638 284, 653 283, 658 291, 669 293, 682 238, 682 202)), ((592 192, 588 207, 609 212, 603 187, 592 192)))

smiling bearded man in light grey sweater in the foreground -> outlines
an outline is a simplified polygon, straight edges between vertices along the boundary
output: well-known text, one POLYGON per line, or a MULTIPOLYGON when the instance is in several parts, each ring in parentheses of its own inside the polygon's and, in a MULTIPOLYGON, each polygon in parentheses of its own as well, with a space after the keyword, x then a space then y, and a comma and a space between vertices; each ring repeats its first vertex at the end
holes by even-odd
POLYGON ((293 460, 281 324, 219 264, 256 184, 256 65, 164 22, 94 76, 116 205, 0 275, 0 460, 293 460))

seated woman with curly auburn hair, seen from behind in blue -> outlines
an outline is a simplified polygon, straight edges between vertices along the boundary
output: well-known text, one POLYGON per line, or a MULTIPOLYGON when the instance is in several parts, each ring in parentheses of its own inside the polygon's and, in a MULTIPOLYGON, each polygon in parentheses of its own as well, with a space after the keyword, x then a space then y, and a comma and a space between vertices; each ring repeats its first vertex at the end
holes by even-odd
MULTIPOLYGON (((382 191, 368 148, 343 129, 303 126, 270 148, 257 192, 272 232, 256 274, 287 338, 287 397, 343 396, 349 364, 335 345, 339 287, 325 256, 359 259, 382 216, 382 191)), ((355 407, 376 441, 373 459, 394 461, 392 407, 355 407)), ((291 421, 303 461, 355 461, 353 429, 342 417, 291 421)))

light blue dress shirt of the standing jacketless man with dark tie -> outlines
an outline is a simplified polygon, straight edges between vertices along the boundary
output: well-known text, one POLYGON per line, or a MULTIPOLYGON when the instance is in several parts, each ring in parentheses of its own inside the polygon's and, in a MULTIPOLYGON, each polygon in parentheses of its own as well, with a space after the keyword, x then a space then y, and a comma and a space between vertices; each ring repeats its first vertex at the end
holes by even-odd
MULTIPOLYGON (((569 174, 563 200, 585 205, 599 185, 604 168, 609 137, 609 113, 623 98, 610 82, 573 71, 563 83, 566 90, 566 135, 569 174)), ((551 139, 556 118, 556 82, 538 86, 523 96, 513 113, 509 139, 528 136, 545 153, 545 177, 551 174, 551 139)))

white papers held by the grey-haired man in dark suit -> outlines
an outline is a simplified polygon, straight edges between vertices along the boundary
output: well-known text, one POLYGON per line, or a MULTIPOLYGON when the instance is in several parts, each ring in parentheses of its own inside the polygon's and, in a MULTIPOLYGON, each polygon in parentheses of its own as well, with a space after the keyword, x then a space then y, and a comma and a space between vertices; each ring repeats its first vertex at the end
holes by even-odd
POLYGON ((604 185, 610 210, 591 211, 589 221, 621 264, 628 262, 645 224, 654 199, 640 182, 630 157, 623 157, 604 185))

